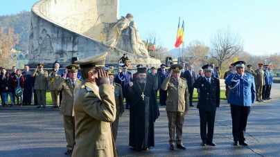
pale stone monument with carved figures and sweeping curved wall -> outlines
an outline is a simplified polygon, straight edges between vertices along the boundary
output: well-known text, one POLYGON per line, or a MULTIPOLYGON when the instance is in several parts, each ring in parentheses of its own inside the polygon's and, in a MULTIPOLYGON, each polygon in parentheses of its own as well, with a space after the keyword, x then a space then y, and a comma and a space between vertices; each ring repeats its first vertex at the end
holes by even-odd
POLYGON ((29 64, 43 62, 51 68, 107 52, 105 64, 116 64, 128 53, 135 64, 159 66, 148 55, 132 14, 119 17, 119 0, 42 0, 32 7, 29 64))

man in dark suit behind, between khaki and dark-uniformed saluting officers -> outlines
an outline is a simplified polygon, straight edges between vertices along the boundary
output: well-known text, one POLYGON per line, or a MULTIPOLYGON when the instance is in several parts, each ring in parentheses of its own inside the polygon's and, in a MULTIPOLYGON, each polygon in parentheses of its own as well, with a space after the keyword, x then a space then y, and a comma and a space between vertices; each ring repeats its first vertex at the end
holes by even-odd
POLYGON ((184 73, 184 78, 186 79, 188 83, 188 89, 189 89, 189 100, 190 100, 190 107, 193 106, 193 84, 195 83, 195 72, 191 71, 193 69, 192 65, 188 66, 188 71, 184 73))

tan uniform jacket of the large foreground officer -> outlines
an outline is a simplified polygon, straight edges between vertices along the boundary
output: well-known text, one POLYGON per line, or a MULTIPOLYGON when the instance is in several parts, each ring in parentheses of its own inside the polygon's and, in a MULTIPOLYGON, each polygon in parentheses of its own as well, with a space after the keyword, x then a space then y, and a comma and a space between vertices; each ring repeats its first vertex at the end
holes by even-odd
POLYGON ((75 141, 72 156, 116 156, 111 122, 116 119, 114 86, 82 81, 74 98, 75 141))

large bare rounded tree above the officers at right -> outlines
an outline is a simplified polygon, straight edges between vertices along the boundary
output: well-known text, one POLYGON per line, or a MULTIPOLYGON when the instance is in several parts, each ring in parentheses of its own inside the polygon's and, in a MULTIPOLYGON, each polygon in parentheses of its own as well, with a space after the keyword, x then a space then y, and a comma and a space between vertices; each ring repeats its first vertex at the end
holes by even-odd
POLYGON ((211 36, 210 44, 213 48, 210 55, 218 61, 220 67, 222 62, 243 52, 243 41, 239 33, 231 30, 229 26, 218 29, 216 34, 211 36))

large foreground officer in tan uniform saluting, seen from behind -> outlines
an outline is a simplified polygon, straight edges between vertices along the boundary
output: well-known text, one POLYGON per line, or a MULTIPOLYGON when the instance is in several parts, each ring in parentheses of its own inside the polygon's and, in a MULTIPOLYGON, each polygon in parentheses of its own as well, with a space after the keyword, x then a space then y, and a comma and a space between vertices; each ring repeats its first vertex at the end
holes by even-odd
POLYGON ((76 61, 80 65, 82 84, 76 92, 75 144, 73 157, 116 156, 111 123, 116 119, 115 88, 109 75, 101 69, 107 53, 76 61))

